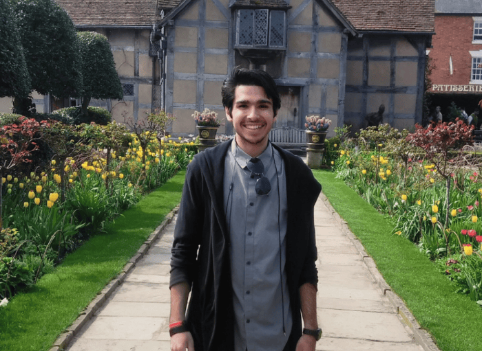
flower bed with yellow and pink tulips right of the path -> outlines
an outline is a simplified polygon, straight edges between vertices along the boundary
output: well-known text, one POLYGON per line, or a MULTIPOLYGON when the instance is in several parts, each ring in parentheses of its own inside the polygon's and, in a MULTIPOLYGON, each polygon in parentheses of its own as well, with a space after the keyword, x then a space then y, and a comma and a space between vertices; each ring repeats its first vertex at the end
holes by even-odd
POLYGON ((482 304, 482 157, 459 122, 415 133, 388 125, 350 139, 337 177, 393 218, 392 235, 414 242, 461 293, 482 304))

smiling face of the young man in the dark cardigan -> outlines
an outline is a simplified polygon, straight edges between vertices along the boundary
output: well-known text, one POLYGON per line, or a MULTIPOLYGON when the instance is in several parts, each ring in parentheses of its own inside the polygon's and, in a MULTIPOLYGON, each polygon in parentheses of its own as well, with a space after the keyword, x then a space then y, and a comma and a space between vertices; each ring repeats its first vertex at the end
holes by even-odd
MULTIPOLYGON (((266 96, 262 87, 238 85, 234 91, 233 109, 227 119, 233 123, 236 142, 242 150, 251 155, 249 150, 260 153, 266 148, 268 134, 276 121, 273 101, 266 96)), ((259 154, 258 154, 259 155, 259 154)))

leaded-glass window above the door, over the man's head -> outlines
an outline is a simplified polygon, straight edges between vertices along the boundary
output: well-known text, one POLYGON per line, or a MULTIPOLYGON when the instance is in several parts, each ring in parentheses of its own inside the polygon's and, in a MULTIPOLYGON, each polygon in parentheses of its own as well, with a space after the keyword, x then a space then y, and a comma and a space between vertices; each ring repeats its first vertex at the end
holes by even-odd
POLYGON ((240 9, 236 14, 236 47, 286 47, 286 12, 268 9, 240 9))

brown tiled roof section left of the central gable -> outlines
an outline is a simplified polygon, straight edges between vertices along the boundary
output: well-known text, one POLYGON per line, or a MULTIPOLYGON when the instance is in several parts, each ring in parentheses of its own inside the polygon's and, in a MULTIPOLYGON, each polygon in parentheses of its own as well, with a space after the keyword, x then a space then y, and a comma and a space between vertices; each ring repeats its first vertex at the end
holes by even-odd
POLYGON ((76 27, 147 27, 159 19, 156 0, 54 1, 67 11, 76 27))

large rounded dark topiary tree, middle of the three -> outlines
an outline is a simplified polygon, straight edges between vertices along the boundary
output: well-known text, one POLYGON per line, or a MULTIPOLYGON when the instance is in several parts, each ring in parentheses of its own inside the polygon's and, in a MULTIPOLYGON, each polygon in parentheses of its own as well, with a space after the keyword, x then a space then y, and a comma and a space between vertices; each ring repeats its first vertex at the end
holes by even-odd
MULTIPOLYGON (((16 0, 21 45, 31 89, 57 98, 80 96, 81 57, 74 23, 53 0, 16 0)), ((14 112, 29 110, 29 99, 15 95, 14 112)))

